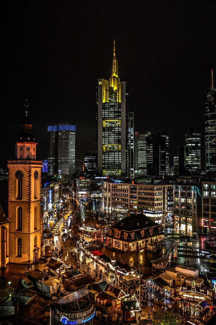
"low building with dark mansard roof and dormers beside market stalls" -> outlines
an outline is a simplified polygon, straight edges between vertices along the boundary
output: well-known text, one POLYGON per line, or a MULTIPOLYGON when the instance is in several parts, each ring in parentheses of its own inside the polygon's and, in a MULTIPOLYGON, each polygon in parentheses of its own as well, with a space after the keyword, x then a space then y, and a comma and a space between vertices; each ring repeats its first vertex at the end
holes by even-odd
POLYGON ((155 246, 163 240, 160 224, 145 214, 130 214, 109 228, 107 245, 110 248, 132 253, 147 249, 148 244, 155 246))

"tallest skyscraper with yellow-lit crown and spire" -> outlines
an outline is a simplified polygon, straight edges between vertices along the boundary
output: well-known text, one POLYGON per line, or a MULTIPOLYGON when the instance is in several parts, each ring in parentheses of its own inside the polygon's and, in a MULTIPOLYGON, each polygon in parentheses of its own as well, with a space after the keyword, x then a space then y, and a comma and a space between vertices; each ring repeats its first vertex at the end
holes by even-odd
POLYGON ((119 81, 118 60, 114 55, 109 83, 97 82, 97 175, 128 176, 128 84, 119 81))

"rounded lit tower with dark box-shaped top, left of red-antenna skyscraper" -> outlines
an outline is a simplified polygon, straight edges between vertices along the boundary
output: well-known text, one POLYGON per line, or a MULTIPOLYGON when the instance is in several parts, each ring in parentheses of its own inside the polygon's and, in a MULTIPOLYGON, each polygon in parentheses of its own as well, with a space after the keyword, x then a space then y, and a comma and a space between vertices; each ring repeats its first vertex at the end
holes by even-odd
POLYGON ((186 134, 186 174, 198 175, 201 171, 201 139, 195 126, 188 126, 186 134))

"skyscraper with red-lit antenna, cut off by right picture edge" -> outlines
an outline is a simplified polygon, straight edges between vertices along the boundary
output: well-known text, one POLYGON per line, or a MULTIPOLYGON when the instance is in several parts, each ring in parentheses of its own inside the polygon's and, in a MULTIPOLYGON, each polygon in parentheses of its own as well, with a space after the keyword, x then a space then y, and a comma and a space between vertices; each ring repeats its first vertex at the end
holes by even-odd
POLYGON ((211 88, 205 93, 206 172, 216 172, 215 88, 211 70, 211 88))

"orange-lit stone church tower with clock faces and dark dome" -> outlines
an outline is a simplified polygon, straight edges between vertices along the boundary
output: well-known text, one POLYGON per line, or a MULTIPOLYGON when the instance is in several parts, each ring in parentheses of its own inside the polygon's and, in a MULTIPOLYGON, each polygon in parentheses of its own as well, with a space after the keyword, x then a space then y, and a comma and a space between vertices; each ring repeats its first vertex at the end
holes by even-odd
POLYGON ((40 210, 42 162, 36 161, 36 137, 27 117, 16 137, 15 160, 8 161, 9 262, 35 263, 40 257, 42 218, 40 210))

